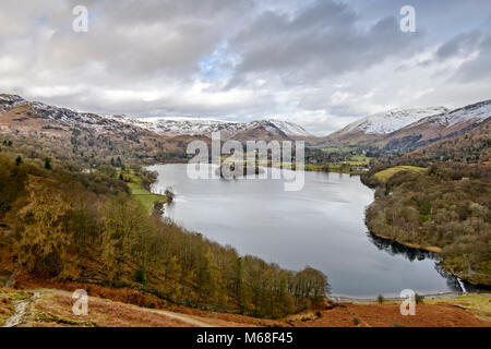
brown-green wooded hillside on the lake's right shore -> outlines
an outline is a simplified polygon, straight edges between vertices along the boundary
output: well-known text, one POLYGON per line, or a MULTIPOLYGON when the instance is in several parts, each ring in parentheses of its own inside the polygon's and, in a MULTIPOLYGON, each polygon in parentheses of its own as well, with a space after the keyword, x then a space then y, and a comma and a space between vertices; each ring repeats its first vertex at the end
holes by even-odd
POLYGON ((491 169, 457 161, 426 171, 399 171, 375 185, 367 224, 375 234, 400 243, 442 249, 442 266, 474 284, 491 286, 491 169))

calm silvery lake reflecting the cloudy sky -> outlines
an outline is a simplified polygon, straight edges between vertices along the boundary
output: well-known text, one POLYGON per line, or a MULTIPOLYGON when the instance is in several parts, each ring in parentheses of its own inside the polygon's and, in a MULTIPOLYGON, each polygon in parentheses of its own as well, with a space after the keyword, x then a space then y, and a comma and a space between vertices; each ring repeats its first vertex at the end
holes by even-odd
POLYGON ((158 172, 154 192, 171 186, 176 193, 166 217, 240 254, 294 270, 322 270, 334 294, 460 290, 455 278, 438 270, 431 253, 368 233, 364 209, 373 191, 357 176, 306 172, 303 190, 286 192, 283 180, 193 180, 182 164, 148 169, 158 172))

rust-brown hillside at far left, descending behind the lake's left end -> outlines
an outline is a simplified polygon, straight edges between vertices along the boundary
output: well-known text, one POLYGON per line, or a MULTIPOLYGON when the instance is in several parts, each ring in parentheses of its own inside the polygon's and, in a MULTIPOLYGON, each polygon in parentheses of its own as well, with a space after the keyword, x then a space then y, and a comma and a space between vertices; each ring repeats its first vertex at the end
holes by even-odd
POLYGON ((52 157, 79 168, 108 165, 118 157, 127 163, 182 158, 185 144, 196 139, 164 137, 98 115, 31 103, 17 96, 0 96, 0 111, 2 143, 13 143, 25 158, 52 157))

